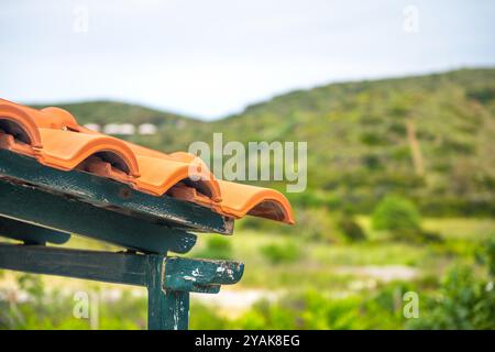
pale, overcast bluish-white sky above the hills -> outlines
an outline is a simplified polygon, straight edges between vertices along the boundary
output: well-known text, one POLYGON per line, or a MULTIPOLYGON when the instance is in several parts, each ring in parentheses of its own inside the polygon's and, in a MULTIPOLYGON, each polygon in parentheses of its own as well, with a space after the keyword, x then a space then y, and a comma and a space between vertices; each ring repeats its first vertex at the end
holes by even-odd
POLYGON ((2 0, 0 97, 212 119, 332 81, 495 66, 494 36, 490 0, 2 0))

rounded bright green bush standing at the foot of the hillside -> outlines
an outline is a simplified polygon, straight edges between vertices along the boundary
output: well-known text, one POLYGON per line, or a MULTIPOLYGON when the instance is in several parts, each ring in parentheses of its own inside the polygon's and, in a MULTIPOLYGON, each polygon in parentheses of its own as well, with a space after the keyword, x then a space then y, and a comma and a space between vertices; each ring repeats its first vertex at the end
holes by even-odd
POLYGON ((376 230, 417 232, 421 229, 421 217, 410 200, 388 196, 373 211, 372 224, 376 230))

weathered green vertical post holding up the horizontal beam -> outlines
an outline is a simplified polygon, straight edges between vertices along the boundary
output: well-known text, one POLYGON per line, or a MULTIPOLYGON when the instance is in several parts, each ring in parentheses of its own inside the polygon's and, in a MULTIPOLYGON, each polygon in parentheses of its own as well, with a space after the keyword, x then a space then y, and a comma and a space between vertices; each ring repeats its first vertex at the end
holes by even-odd
POLYGON ((187 330, 189 327, 189 292, 165 288, 165 256, 148 255, 147 258, 147 329, 187 330))

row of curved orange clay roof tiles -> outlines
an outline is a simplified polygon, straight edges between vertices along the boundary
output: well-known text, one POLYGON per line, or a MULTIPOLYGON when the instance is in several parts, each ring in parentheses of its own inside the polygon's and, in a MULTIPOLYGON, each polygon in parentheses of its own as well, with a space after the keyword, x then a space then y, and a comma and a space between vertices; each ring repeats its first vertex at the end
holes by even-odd
POLYGON ((0 148, 50 167, 112 178, 154 196, 167 194, 238 219, 251 215, 295 222, 290 204, 279 191, 216 179, 189 153, 165 154, 90 131, 59 108, 36 110, 0 99, 0 148))

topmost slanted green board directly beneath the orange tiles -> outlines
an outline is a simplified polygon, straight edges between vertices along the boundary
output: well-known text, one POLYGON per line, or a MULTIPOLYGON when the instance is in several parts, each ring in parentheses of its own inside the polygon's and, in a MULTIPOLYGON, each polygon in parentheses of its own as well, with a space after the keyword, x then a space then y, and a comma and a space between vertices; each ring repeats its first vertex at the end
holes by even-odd
POLYGON ((0 178, 20 183, 75 199, 108 207, 112 211, 151 218, 169 227, 194 229, 197 232, 232 234, 233 219, 210 209, 172 197, 151 196, 128 185, 88 173, 64 172, 37 163, 34 158, 0 150, 0 178))

